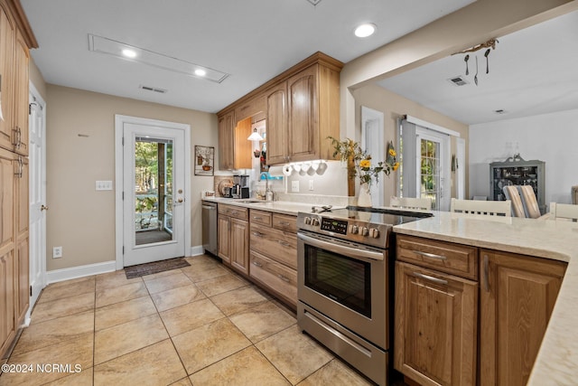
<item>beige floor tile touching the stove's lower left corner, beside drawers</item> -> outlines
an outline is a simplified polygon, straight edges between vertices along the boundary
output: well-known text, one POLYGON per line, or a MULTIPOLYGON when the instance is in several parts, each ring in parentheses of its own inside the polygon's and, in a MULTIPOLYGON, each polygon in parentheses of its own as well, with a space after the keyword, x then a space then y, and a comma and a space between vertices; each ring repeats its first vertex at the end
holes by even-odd
POLYGON ((229 318, 253 343, 297 323, 293 316, 271 302, 231 315, 229 318))

